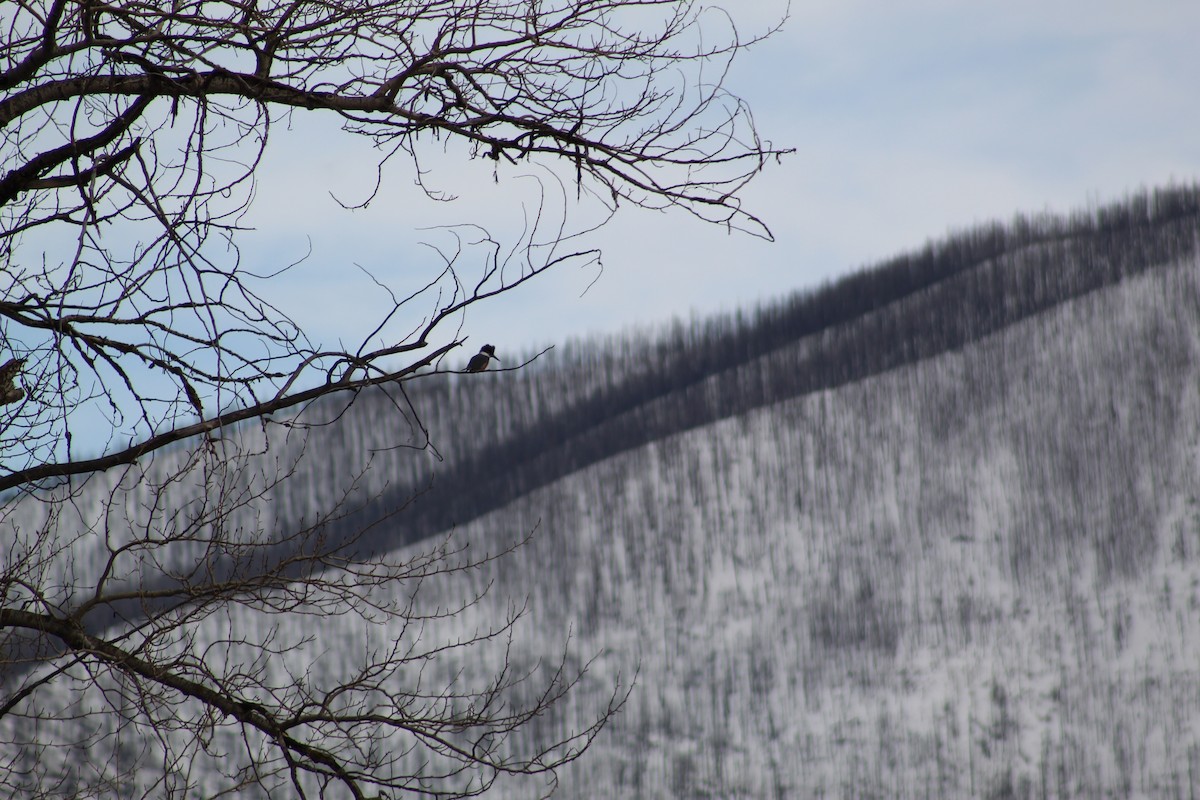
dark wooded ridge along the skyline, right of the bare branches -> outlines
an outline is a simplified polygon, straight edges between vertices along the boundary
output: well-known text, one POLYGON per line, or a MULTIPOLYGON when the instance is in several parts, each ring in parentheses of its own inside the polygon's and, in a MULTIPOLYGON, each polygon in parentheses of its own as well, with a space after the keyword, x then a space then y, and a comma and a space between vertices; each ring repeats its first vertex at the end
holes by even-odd
POLYGON ((400 529, 377 531, 384 546, 418 541, 648 441, 961 348, 1198 241, 1200 187, 1146 191, 979 225, 748 312, 552 351, 514 380, 433 378, 412 401, 419 415, 460 415, 462 427, 431 420, 445 459, 346 522, 419 489, 400 529))

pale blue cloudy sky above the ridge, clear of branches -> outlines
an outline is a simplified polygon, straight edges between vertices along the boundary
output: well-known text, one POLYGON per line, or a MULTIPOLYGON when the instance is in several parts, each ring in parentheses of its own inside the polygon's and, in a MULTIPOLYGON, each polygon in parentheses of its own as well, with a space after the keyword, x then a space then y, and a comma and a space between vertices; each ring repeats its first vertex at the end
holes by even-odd
MULTIPOLYGON (((725 5, 750 30, 782 7, 725 5)), ((605 270, 582 297, 596 272, 568 269, 479 308, 464 330, 503 355, 732 309, 949 229, 1196 180, 1198 35, 1200 4, 1187 0, 796 0, 784 31, 730 79, 762 134, 797 149, 745 194, 774 243, 626 209, 590 240, 605 270)), ((397 166, 367 211, 343 213, 329 192, 361 198, 370 154, 296 119, 292 136, 276 132, 251 216, 262 233, 246 252, 284 261, 311 237, 280 301, 326 341, 361 333, 372 313, 376 289, 354 263, 403 289, 430 275, 419 227, 480 222, 502 234, 532 203, 533 181, 496 186, 492 162, 451 152, 431 157, 430 179, 458 201, 430 204, 397 166)))

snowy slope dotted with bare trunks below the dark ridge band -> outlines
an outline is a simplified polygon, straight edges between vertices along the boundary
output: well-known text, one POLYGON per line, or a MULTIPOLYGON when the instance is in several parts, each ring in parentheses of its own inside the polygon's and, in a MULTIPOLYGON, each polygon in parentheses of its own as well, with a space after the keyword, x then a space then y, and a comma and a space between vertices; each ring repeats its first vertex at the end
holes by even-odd
POLYGON ((498 608, 640 666, 562 796, 1190 796, 1198 355, 1189 260, 458 531, 540 522, 498 608))

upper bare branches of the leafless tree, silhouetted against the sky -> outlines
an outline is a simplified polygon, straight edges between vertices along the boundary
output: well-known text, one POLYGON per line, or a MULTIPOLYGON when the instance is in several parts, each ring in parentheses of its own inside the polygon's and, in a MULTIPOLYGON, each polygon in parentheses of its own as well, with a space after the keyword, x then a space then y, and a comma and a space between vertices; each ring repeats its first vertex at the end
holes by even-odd
POLYGON ((64 463, 78 459, 67 409, 110 427, 110 451, 140 441, 127 463, 197 433, 184 420, 436 357, 452 341, 438 323, 594 257, 541 251, 520 276, 485 265, 469 282, 451 263, 413 313, 380 320, 391 347, 322 349, 236 252, 272 125, 298 109, 338 115, 418 175, 422 143, 460 139, 498 174, 560 163, 612 204, 766 231, 737 192, 775 151, 722 89, 746 42, 706 4, 55 0, 5 4, 0 20, 0 343, 28 357, 0 488, 80 471, 64 463))

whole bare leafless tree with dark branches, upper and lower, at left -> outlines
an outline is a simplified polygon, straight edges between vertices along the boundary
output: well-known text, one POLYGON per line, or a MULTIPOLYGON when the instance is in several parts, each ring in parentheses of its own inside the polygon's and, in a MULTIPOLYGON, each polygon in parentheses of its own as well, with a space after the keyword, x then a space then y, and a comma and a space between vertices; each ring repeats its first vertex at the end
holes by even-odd
POLYGON ((194 796, 203 758, 214 794, 445 796, 578 757, 620 686, 518 747, 581 670, 564 658, 530 692, 505 656, 490 680, 431 685, 430 664, 503 645, 520 614, 434 644, 412 633, 455 609, 385 599, 494 553, 360 558, 326 535, 336 503, 276 530, 294 462, 266 451, 326 396, 379 386, 412 414, 404 381, 458 347, 467 309, 595 253, 476 234, 370 336, 330 347, 272 302, 286 271, 241 260, 241 215, 302 109, 416 175, 458 139, 499 180, 557 164, 613 210, 764 234, 738 192, 779 151, 722 88, 750 41, 688 0, 13 0, 0 24, 4 792, 194 796), (218 435, 239 422, 264 434, 218 435), (25 504, 37 522, 18 528, 25 504), (280 626, 328 615, 404 636, 323 684, 290 661, 312 637, 280 626))

